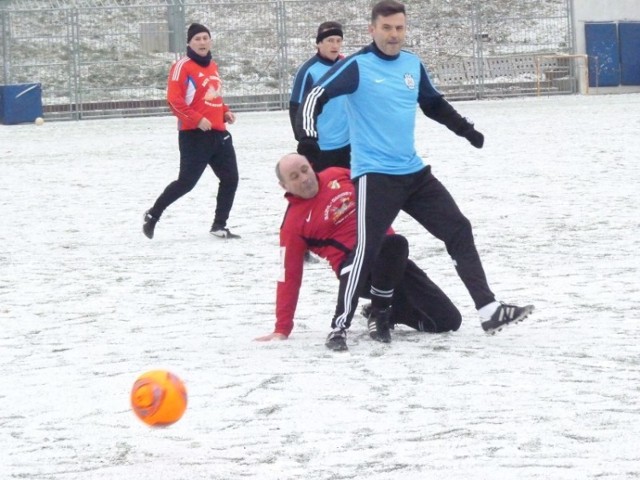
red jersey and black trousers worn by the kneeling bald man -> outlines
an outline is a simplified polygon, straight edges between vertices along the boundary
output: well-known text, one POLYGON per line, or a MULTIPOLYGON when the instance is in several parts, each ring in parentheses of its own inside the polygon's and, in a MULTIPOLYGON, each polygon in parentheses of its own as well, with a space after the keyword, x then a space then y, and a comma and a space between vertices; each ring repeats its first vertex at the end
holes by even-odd
MULTIPOLYGON (((286 336, 293 330, 305 252, 311 250, 327 259, 342 289, 347 275, 340 277, 340 269, 348 263, 356 245, 355 189, 349 170, 331 167, 317 175, 318 194, 313 199, 285 195, 289 208, 280 227, 282 272, 277 287, 275 333, 286 336)), ((391 229, 388 234, 387 239, 397 237, 391 235, 391 229)), ((398 258, 390 253, 386 261, 394 265, 387 263, 386 268, 406 262, 394 289, 393 323, 428 332, 457 330, 462 318, 446 294, 406 256, 398 258)), ((368 297, 368 292, 361 295, 368 297)))

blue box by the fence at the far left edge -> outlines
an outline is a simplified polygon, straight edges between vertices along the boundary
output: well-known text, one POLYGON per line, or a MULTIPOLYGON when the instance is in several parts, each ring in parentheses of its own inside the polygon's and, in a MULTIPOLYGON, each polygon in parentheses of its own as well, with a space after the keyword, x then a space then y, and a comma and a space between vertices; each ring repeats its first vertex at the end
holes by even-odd
POLYGON ((33 122, 42 116, 42 85, 0 86, 0 121, 5 125, 33 122))

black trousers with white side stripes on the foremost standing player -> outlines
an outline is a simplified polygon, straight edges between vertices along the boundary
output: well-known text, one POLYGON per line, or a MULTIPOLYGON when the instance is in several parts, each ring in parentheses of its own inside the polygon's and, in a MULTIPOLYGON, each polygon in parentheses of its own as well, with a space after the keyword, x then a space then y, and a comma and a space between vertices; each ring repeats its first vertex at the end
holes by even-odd
POLYGON ((471 223, 431 168, 409 175, 370 173, 355 179, 358 242, 332 325, 348 328, 387 229, 403 210, 442 240, 476 308, 495 300, 473 240, 471 223))

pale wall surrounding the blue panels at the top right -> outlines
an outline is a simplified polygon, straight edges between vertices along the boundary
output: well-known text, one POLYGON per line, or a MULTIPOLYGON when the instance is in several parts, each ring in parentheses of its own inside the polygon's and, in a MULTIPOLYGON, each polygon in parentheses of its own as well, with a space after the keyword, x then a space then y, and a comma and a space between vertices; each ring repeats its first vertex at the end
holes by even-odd
MULTIPOLYGON (((572 0, 574 45, 577 54, 586 53, 586 22, 640 22, 640 0, 572 0)), ((640 52, 638 52, 640 55, 640 52)), ((584 91, 581 86, 580 91, 584 91)), ((590 93, 640 92, 640 86, 599 87, 590 93)))

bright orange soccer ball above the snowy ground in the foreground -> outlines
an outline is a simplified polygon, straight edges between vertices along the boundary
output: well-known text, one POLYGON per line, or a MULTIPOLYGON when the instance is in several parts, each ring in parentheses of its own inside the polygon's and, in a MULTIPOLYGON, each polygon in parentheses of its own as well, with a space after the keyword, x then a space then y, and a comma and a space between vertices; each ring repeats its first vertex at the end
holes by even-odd
POLYGON ((131 408, 147 425, 171 425, 187 409, 187 389, 182 380, 166 370, 144 373, 131 389, 131 408))

